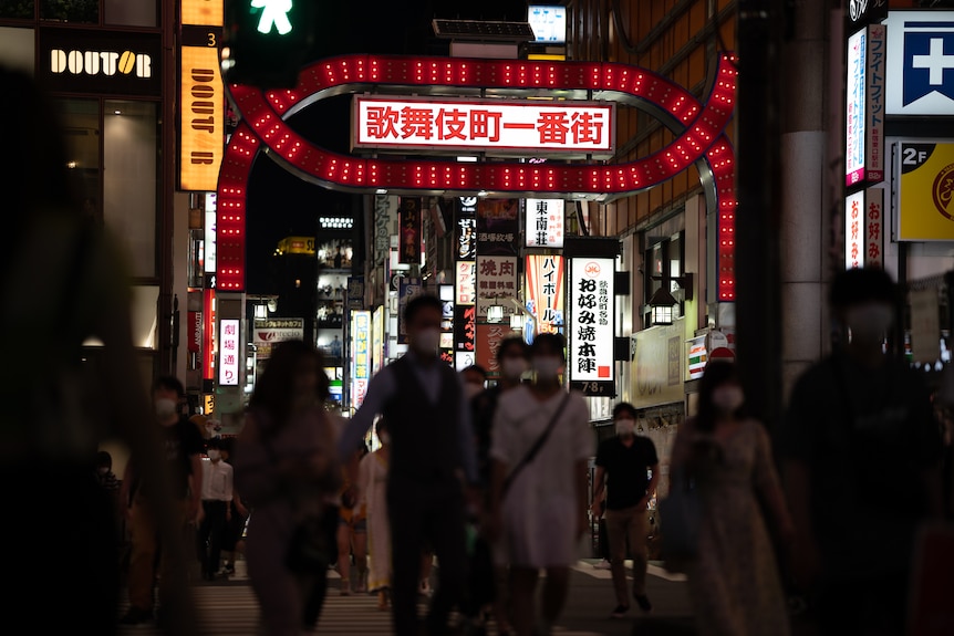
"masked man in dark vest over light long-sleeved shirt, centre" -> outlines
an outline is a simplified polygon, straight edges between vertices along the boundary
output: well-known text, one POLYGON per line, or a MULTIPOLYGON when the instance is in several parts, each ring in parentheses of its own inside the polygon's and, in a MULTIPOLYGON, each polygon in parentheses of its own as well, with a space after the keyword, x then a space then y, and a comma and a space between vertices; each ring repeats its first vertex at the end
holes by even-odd
POLYGON ((348 457, 383 415, 391 434, 387 509, 393 554, 392 611, 397 636, 417 636, 421 554, 440 563, 427 632, 446 634, 465 588, 465 487, 478 481, 470 408, 459 374, 440 361, 443 303, 418 295, 404 310, 409 351, 379 372, 343 431, 348 457))

